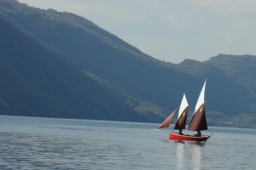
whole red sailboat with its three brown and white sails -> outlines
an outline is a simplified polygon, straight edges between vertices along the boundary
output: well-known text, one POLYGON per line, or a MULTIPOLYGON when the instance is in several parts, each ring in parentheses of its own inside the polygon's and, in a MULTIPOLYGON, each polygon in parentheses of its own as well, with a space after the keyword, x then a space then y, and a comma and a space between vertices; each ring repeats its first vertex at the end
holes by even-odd
MULTIPOLYGON (((204 83, 201 94, 199 95, 199 98, 197 100, 197 103, 195 105, 195 112, 191 118, 191 121, 189 123, 188 130, 189 131, 197 131, 197 134, 195 135, 189 135, 189 134, 183 134, 182 130, 185 129, 186 126, 186 120, 187 115, 189 111, 189 104, 187 102, 185 94, 183 94, 183 99, 181 102, 181 105, 179 107, 178 116, 177 116, 177 122, 173 128, 173 132, 169 133, 169 139, 176 139, 176 140, 193 140, 193 141, 207 141, 211 137, 211 135, 201 135, 202 130, 207 130, 207 118, 205 113, 205 88, 206 83, 204 83), (178 129, 179 132, 175 133, 174 131, 178 129)), ((164 122, 160 124, 160 127, 158 128, 164 128, 164 127, 170 127, 170 123, 172 121, 172 117, 175 114, 176 111, 173 111, 170 116, 166 118, 164 122)), ((188 131, 187 130, 187 131, 188 131)))

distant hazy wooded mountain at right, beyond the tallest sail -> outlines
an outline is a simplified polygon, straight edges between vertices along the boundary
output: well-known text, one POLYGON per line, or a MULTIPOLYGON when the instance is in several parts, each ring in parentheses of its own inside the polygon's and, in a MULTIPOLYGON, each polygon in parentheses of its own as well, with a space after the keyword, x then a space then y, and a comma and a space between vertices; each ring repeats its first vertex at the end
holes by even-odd
POLYGON ((253 55, 218 54, 205 62, 185 59, 175 67, 192 77, 211 77, 206 95, 213 125, 256 127, 254 65, 253 55))

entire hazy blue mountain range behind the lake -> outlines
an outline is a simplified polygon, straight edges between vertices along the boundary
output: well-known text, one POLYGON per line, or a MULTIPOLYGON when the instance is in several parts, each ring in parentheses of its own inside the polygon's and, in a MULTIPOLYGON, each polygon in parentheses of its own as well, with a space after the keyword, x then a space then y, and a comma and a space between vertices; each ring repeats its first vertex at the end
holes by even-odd
POLYGON ((192 112, 207 78, 212 125, 256 125, 255 56, 174 65, 78 15, 15 0, 0 1, 0 38, 0 114, 160 122, 183 93, 192 112))

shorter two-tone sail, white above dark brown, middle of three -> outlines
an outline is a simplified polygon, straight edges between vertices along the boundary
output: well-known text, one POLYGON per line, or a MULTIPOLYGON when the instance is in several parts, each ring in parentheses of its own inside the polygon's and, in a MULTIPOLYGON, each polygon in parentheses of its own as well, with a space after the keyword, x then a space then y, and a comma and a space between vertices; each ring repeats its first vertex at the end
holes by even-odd
POLYGON ((186 99, 186 95, 183 94, 183 99, 178 110, 177 122, 174 126, 174 129, 185 129, 188 111, 189 111, 189 104, 186 99))

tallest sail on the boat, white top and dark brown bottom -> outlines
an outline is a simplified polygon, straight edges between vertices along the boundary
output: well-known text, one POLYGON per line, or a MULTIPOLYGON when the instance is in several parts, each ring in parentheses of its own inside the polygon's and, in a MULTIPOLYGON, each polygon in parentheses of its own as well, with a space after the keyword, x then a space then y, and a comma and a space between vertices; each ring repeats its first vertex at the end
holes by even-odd
POLYGON ((189 123, 188 130, 191 131, 201 131, 201 130, 207 130, 207 118, 205 113, 205 88, 206 88, 206 82, 203 85, 203 88, 201 89, 201 93, 199 95, 199 98, 197 100, 197 103, 195 105, 195 112, 192 116, 191 122, 189 123))

